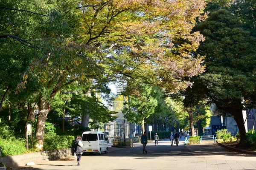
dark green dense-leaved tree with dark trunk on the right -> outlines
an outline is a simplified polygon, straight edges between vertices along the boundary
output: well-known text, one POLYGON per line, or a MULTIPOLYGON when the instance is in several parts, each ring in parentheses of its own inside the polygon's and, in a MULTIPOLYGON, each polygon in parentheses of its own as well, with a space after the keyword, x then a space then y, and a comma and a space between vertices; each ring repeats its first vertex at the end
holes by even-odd
POLYGON ((210 13, 195 31, 206 39, 196 53, 206 55, 206 72, 199 77, 203 94, 220 112, 234 116, 242 141, 246 133, 242 111, 255 107, 255 37, 224 9, 210 13))

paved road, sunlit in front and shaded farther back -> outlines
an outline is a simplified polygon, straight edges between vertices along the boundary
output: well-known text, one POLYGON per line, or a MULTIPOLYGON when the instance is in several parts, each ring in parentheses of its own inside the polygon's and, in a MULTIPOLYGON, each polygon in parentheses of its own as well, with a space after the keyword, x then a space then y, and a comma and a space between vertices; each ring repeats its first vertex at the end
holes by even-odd
MULTIPOLYGON (((184 138, 184 136, 183 136, 184 138)), ((218 144, 171 146, 162 140, 155 146, 142 145, 131 148, 109 148, 109 153, 82 156, 80 166, 71 157, 37 164, 34 170, 256 170, 256 156, 232 153, 218 144)))

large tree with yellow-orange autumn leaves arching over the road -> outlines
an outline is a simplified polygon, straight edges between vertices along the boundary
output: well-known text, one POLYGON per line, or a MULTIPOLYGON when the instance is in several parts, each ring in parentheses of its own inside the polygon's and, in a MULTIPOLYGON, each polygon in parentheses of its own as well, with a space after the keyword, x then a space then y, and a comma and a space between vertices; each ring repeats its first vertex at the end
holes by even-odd
MULTIPOLYGON (((1 9, 34 16, 38 19, 34 24, 36 30, 41 31, 33 32, 28 38, 6 31, 0 39, 17 40, 35 49, 33 54, 36 55, 17 91, 25 88, 27 76, 38 77, 38 148, 43 147, 45 121, 52 109, 50 101, 66 85, 101 78, 145 77, 151 81, 159 74, 161 82, 168 84, 166 88, 173 90, 186 87, 190 84, 187 77, 202 72, 202 58, 190 53, 203 40, 198 32, 191 34, 191 29, 195 18, 203 12, 204 0, 23 3, 26 6, 11 4, 12 8, 3 6, 1 9), (34 3, 35 8, 30 6, 34 3)), ((5 27, 9 25, 8 19, 5 20, 5 27)), ((23 26, 23 33, 29 28, 22 21, 19 25, 23 26)))

